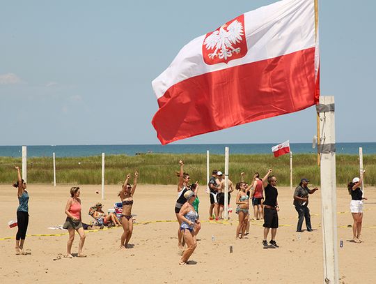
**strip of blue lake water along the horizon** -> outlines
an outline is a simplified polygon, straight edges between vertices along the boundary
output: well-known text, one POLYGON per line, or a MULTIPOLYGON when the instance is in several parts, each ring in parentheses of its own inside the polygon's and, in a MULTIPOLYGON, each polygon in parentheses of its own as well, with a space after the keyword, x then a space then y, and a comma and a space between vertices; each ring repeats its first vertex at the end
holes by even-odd
MULTIPOLYGON (((125 154, 134 156, 142 153, 171 153, 171 154, 224 154, 224 148, 230 149, 230 154, 272 154, 272 146, 275 144, 160 144, 147 145, 44 145, 27 146, 27 156, 43 157, 79 157, 125 154)), ((363 154, 376 154, 375 142, 337 143, 337 154, 359 154, 359 147, 363 147, 363 154)), ((317 149, 312 148, 311 143, 291 143, 292 153, 316 153, 317 149)), ((21 157, 21 146, 0 146, 0 156, 21 157)))

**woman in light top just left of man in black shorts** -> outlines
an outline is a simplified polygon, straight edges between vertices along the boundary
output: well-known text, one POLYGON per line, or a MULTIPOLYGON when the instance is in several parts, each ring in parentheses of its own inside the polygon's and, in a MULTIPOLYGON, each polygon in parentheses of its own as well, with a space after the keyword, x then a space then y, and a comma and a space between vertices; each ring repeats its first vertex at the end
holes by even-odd
POLYGON ((247 216, 249 215, 249 197, 246 195, 246 184, 242 181, 238 182, 235 187, 239 190, 236 197, 236 214, 239 216, 239 223, 236 228, 236 237, 235 239, 240 239, 244 237, 246 230, 246 223, 248 222, 247 216))

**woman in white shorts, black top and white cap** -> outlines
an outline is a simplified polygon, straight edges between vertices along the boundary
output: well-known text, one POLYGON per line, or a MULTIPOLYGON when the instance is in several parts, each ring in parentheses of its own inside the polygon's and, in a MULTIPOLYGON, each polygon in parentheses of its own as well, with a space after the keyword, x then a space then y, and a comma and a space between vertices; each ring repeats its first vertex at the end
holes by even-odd
POLYGON ((361 183, 363 182, 364 172, 361 173, 361 177, 354 177, 352 181, 347 185, 349 194, 351 195, 350 211, 354 223, 352 225, 352 241, 355 243, 361 243, 361 223, 363 221, 363 200, 368 200, 363 196, 363 190, 361 183))

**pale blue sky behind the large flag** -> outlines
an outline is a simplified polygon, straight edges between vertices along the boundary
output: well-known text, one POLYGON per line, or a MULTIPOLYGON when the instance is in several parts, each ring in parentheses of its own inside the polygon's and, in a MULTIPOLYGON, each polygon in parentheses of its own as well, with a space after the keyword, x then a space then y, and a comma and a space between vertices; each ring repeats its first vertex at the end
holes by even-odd
MULTIPOLYGON (((158 144, 151 81, 252 1, 3 1, 0 145, 158 144)), ((375 1, 320 1, 321 94, 336 140, 376 142, 375 1)), ((311 142, 315 108, 175 143, 311 142)))

